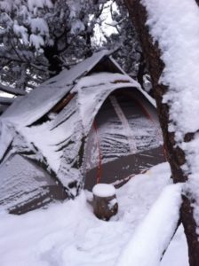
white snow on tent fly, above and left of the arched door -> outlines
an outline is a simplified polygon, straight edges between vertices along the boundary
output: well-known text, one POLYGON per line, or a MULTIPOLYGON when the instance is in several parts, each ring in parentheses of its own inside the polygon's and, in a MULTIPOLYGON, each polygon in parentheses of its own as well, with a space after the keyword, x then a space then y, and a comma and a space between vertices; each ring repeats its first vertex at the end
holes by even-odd
MULTIPOLYGON (((74 161, 78 156, 79 146, 82 142, 83 133, 86 136, 92 127, 92 121, 98 113, 100 106, 103 104, 107 96, 114 90, 123 88, 123 80, 130 80, 128 76, 123 74, 93 74, 82 78, 76 84, 78 93, 58 115, 51 121, 45 122, 41 125, 31 127, 21 127, 18 132, 24 137, 23 145, 34 144, 39 152, 43 154, 47 164, 59 176, 62 184, 65 184, 66 175, 60 175, 61 158, 63 157, 62 145, 69 145, 69 150, 66 157, 70 160, 64 159, 64 167, 68 168, 69 176, 71 165, 66 161, 74 161), (121 82, 112 83, 115 79, 121 82), (101 80, 104 81, 101 84, 101 80), (87 84, 86 90, 84 85, 87 84), (96 85, 98 89, 96 90, 96 85), (42 137, 44 136, 44 137, 42 137), (73 140, 71 144, 71 140, 73 140), (62 176, 64 176, 62 178, 62 176)), ((126 88, 133 89, 137 86, 137 82, 125 82, 126 88)), ((74 173, 71 174, 73 176, 74 173)), ((67 178, 69 179, 69 177, 67 178)), ((68 181, 68 180, 67 180, 68 181)))

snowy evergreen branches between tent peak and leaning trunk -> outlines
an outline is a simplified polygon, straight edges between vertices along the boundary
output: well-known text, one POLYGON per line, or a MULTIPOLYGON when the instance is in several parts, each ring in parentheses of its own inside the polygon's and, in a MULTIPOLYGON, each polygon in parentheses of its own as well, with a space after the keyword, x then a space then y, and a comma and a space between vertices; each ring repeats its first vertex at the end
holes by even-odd
MULTIPOLYGON (((139 38, 123 0, 114 0, 110 4, 112 23, 115 28, 112 35, 106 36, 103 43, 107 49, 115 50, 114 59, 123 70, 137 80, 144 90, 151 90, 148 73, 139 38), (115 4, 115 5, 114 5, 115 4)), ((152 92, 152 91, 150 91, 152 92)))

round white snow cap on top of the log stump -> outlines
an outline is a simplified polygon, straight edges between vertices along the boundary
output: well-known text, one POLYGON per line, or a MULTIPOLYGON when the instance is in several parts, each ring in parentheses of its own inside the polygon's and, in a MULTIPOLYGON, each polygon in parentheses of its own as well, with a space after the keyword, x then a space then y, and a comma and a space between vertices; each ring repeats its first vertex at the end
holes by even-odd
POLYGON ((112 184, 95 184, 92 193, 98 197, 111 197, 115 195, 115 187, 112 184))

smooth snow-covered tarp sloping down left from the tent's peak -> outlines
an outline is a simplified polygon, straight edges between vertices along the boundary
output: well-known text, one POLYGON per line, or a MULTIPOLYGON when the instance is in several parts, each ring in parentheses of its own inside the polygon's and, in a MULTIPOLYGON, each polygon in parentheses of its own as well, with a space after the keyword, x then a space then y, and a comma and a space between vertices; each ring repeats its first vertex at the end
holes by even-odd
POLYGON ((2 118, 17 121, 21 126, 28 126, 37 121, 71 90, 77 78, 88 73, 100 59, 108 54, 110 51, 107 50, 96 52, 91 58, 85 59, 71 69, 63 70, 25 97, 15 100, 12 106, 4 112, 2 118))

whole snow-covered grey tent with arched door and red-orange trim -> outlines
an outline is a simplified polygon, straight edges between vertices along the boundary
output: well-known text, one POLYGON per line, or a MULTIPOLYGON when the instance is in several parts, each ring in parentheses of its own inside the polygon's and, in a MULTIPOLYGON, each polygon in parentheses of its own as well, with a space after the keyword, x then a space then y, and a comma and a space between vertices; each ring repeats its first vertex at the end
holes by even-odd
POLYGON ((163 161, 154 100, 108 51, 17 98, 0 147, 0 206, 18 214, 163 161))

